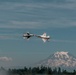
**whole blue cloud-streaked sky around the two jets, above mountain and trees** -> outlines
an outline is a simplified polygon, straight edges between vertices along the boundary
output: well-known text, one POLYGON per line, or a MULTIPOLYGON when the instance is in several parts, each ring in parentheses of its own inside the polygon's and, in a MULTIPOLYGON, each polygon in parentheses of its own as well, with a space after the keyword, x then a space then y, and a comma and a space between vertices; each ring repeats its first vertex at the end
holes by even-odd
POLYGON ((32 66, 57 51, 76 56, 76 0, 0 0, 0 66, 32 66))

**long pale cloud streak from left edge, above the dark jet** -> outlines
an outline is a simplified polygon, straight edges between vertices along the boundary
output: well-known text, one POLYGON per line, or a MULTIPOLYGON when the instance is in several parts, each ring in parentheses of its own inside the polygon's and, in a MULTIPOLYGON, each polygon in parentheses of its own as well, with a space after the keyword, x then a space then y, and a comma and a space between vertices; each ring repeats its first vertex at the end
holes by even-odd
MULTIPOLYGON (((42 22, 37 21, 9 21, 8 23, 2 24, 0 28, 29 28, 29 29, 40 29, 43 26, 42 22)), ((44 28, 44 27, 43 27, 44 28)))

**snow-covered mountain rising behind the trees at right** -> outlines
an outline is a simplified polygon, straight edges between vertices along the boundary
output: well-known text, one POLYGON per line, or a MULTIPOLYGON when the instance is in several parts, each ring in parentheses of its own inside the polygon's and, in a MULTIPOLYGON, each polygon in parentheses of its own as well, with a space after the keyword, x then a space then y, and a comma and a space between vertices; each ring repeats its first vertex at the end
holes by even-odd
POLYGON ((76 58, 68 52, 56 52, 49 56, 47 59, 39 62, 37 66, 49 66, 49 67, 70 67, 76 68, 76 58))

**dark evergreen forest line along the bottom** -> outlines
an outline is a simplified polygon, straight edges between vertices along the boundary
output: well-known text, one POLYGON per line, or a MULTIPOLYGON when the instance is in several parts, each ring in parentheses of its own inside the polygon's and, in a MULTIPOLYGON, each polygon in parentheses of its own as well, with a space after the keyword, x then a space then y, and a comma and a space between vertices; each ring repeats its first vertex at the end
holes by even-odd
POLYGON ((67 70, 59 68, 52 69, 51 67, 24 67, 22 69, 8 69, 1 67, 0 71, 6 72, 6 75, 76 75, 76 70, 68 72, 67 70))

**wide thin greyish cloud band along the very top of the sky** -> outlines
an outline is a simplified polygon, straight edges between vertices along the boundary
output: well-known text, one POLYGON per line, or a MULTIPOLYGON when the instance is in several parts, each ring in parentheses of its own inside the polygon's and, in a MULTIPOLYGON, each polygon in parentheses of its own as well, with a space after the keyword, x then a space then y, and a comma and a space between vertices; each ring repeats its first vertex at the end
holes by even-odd
MULTIPOLYGON (((0 10, 33 10, 33 9, 45 9, 45 8, 65 8, 75 9, 76 0, 50 0, 50 1, 35 1, 35 2, 2 2, 0 4, 0 10)), ((76 9, 75 9, 76 10, 76 9)))

